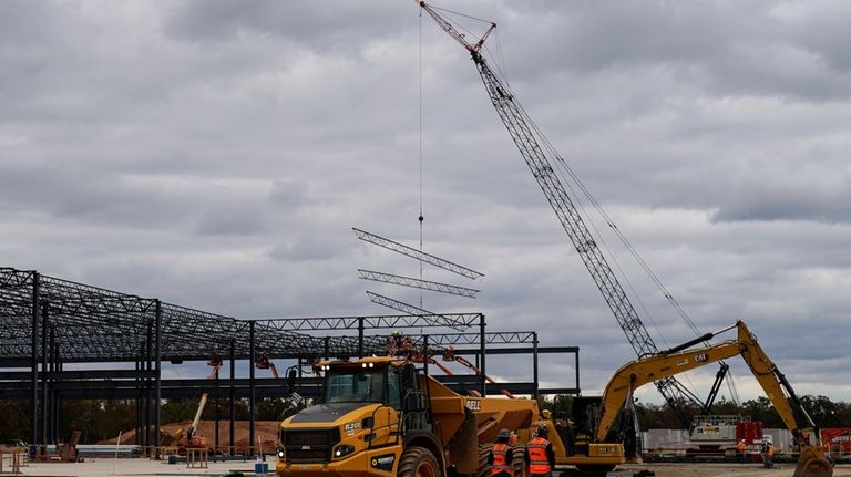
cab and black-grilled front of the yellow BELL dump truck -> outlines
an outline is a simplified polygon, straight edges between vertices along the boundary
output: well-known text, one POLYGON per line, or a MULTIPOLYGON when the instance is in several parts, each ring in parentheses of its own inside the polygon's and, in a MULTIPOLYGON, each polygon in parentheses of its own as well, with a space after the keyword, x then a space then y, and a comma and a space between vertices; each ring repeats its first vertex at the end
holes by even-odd
POLYGON ((391 475, 403 428, 431 431, 413 364, 382 356, 318 367, 321 403, 281 423, 278 475, 391 475))

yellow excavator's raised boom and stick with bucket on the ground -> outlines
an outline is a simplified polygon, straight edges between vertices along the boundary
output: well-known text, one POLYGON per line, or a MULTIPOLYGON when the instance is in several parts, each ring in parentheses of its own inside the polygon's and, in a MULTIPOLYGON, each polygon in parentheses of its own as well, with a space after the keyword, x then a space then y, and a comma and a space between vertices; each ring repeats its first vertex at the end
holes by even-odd
POLYGON ((598 414, 598 424, 595 432, 595 440, 604 442, 612 429, 612 425, 618 412, 625 405, 630 405, 633 392, 638 387, 668 376, 705 366, 709 363, 740 355, 750 369, 759 385, 766 392, 771 404, 777 409, 786 427, 792 433, 796 444, 801 449, 798 468, 794 477, 827 477, 833 474, 831 464, 824 458, 821 447, 809 443, 808 434, 812 433, 816 424, 807 414, 794 390, 786 380, 786 376, 777 369, 768 357, 756 336, 748 326, 739 321, 734 326, 720 330, 716 333, 707 333, 680 346, 663 351, 659 354, 642 357, 627 363, 609 380, 603 395, 603 403, 598 414), (687 349, 690 345, 705 342, 732 328, 737 329, 737 338, 708 348, 687 349), (807 419, 807 426, 800 427, 794 417, 794 407, 807 419))

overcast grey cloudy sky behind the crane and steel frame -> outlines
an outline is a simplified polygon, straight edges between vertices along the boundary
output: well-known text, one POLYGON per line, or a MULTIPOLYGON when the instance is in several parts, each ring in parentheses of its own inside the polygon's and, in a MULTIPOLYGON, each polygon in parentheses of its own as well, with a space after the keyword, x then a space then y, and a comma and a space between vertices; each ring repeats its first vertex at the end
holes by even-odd
MULTIPOLYGON (((451 8, 499 24, 514 92, 703 331, 744 320, 800 393, 851 400, 851 3, 451 8)), ((469 55, 410 1, 7 0, 0 42, 3 266, 238 318, 417 302, 357 279, 419 268, 350 229, 419 242, 422 114, 424 249, 486 274, 427 268, 482 294, 426 308, 582 346, 587 393, 633 357, 469 55)), ((606 240, 659 346, 690 339, 606 240)))

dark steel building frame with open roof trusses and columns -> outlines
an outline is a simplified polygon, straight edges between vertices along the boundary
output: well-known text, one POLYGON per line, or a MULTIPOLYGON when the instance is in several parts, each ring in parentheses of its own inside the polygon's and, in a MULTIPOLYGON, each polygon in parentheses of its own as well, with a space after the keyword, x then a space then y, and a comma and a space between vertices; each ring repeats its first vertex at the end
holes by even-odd
POLYGON ((230 402, 232 443, 234 402, 237 397, 247 397, 249 447, 254 448, 257 398, 286 394, 280 380, 256 377, 255 357, 259 353, 271 359, 298 360, 299 393, 316 396, 318 380, 303 376, 301 364, 319 357, 349 359, 385 353, 388 335, 367 334, 367 330, 439 331, 448 328, 447 321, 452 328, 479 328, 479 332, 428 333, 412 338, 418 345, 435 353, 447 346, 478 345, 455 350, 455 353, 474 355, 482 376, 441 377, 449 385, 459 390, 478 385, 482 394, 496 392, 499 387, 536 395, 539 353, 572 353, 576 366, 575 387, 540 391, 578 394, 578 348, 539 346, 534 332, 486 332, 481 313, 237 320, 155 298, 49 277, 35 270, 0 268, 0 369, 29 367, 29 371, 0 371, 0 397, 29 398, 32 404, 30 443, 37 444, 58 440, 63 398, 135 398, 136 435, 144 435, 144 442, 139 444, 158 448, 163 398, 192 397, 203 390, 215 390, 213 395, 217 400, 226 392, 230 402), (353 330, 357 335, 308 334, 353 330), (496 348, 485 349, 485 344, 496 348), (486 384, 485 355, 502 353, 533 354, 533 382, 500 383, 498 387, 486 384), (207 361, 213 356, 229 360, 229 379, 162 379, 164 361, 177 364, 207 361), (237 360, 248 362, 247 379, 236 377, 237 360), (135 369, 66 371, 63 367, 66 363, 135 363, 135 369))

